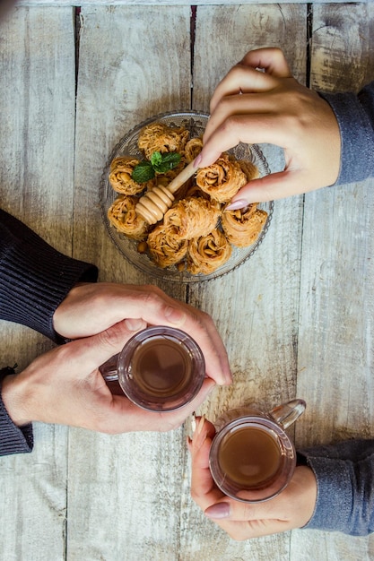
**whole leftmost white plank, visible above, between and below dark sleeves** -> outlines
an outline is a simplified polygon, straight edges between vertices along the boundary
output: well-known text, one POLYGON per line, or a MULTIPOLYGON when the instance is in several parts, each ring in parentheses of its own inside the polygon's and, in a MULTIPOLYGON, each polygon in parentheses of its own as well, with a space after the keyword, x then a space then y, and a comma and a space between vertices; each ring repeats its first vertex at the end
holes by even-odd
MULTIPOLYGON (((72 244, 72 9, 17 8, 1 25, 0 199, 60 250, 72 244)), ((51 343, 0 324, 2 365, 19 371, 51 343)), ((67 429, 35 426, 31 454, 0 460, 2 559, 65 558, 67 429), (46 557, 47 552, 47 557, 46 557)))

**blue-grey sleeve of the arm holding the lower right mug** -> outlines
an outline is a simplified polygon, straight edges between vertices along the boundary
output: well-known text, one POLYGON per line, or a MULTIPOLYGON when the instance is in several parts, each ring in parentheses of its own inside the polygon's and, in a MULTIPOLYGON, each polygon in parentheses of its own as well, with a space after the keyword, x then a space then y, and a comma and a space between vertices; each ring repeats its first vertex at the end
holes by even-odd
POLYGON ((365 536, 374 531, 374 440, 348 440, 298 453, 314 471, 317 503, 306 529, 365 536))

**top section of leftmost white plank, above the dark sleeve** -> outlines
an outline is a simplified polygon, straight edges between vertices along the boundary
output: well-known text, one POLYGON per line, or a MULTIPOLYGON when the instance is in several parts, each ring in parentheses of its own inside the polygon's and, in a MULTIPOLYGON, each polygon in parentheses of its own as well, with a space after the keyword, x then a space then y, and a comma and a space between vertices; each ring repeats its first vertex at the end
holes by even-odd
POLYGON ((71 8, 17 8, 2 22, 0 199, 71 251, 74 27, 71 8))

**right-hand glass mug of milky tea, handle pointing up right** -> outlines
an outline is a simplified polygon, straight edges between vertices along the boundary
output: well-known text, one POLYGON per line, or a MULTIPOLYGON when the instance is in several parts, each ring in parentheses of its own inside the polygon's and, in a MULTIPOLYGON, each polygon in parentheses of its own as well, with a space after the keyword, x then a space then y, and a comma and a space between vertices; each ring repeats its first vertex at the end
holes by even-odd
POLYGON ((257 406, 230 410, 217 420, 209 467, 222 493, 258 503, 287 487, 296 467, 296 451, 285 429, 305 408, 305 401, 295 399, 266 413, 257 406))

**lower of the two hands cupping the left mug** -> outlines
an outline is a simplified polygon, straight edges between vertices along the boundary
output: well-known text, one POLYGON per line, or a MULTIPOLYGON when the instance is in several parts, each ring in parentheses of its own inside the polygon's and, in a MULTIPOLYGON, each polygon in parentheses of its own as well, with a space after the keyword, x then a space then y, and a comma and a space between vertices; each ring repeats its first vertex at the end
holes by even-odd
POLYGON ((145 411, 124 395, 113 395, 99 367, 132 335, 126 322, 119 322, 40 355, 20 374, 5 376, 2 396, 13 422, 22 426, 40 421, 108 434, 179 427, 213 389, 213 380, 205 378, 193 401, 169 413, 145 411))

